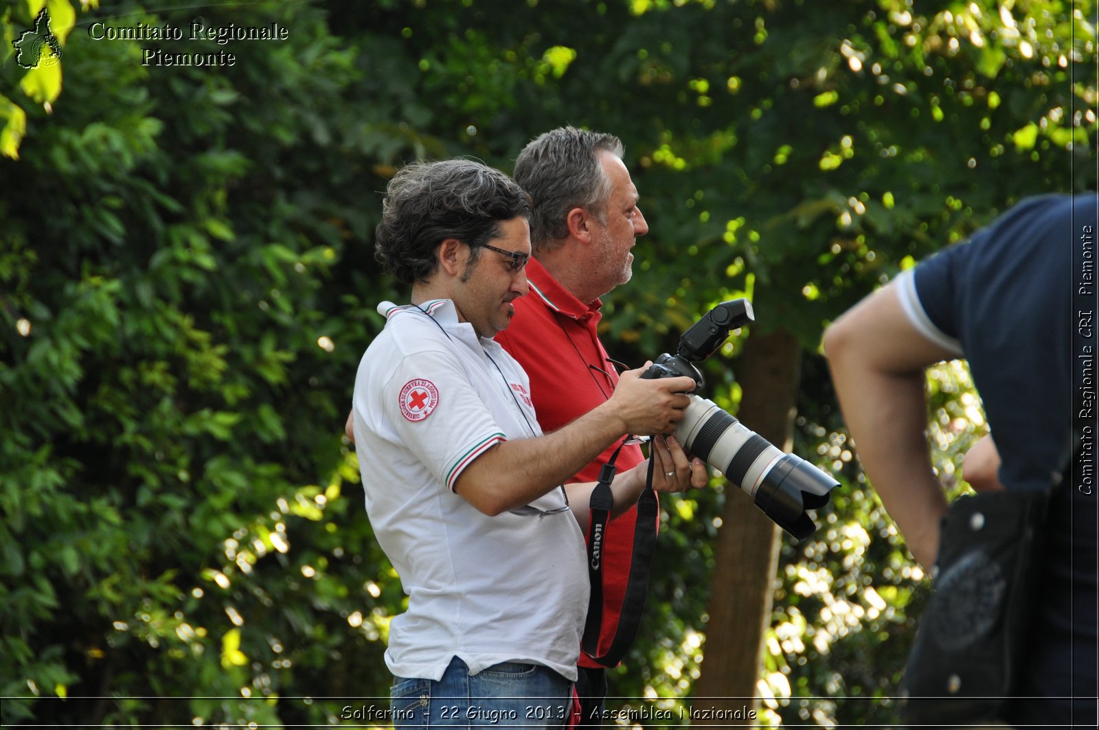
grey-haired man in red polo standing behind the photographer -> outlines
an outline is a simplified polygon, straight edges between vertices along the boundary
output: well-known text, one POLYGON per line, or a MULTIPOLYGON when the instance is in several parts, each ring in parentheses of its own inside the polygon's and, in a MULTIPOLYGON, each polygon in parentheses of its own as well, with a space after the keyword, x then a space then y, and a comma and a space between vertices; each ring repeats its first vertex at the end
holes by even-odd
MULTIPOLYGON (((514 301, 511 327, 497 341, 530 376, 534 410, 547 433, 604 402, 618 383, 597 334, 599 298, 630 280, 630 250, 648 232, 622 152, 622 142, 611 134, 565 126, 533 140, 515 161, 515 181, 533 201, 534 258, 526 266, 530 292, 514 301)), ((598 479, 617 447, 604 451, 574 480, 598 479)), ((615 465, 628 469, 643 460, 641 447, 630 444, 615 465)), ((692 486, 706 486, 709 475, 702 461, 692 458, 690 466, 692 486)), ((608 526, 600 653, 618 629, 636 519, 631 508, 608 526)), ((603 667, 582 653, 576 690, 581 726, 601 726, 607 677, 603 667)))

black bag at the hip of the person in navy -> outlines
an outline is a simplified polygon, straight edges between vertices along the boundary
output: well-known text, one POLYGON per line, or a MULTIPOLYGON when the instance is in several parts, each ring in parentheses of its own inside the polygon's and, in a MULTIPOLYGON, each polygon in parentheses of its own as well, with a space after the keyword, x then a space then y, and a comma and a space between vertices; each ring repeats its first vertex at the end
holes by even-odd
POLYGON ((934 593, 901 683, 901 721, 1000 717, 1020 675, 1050 490, 986 491, 943 518, 934 593))

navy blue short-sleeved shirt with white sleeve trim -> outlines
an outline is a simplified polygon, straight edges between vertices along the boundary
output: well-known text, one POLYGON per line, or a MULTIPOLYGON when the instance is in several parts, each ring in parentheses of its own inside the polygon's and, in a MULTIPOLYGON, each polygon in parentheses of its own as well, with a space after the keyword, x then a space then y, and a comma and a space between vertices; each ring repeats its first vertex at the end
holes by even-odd
MULTIPOLYGON (((969 361, 1008 488, 1046 488, 1069 444, 1072 206, 1067 196, 1029 198, 913 269, 939 336, 921 329, 969 361)), ((902 291, 907 299, 904 281, 902 291)))

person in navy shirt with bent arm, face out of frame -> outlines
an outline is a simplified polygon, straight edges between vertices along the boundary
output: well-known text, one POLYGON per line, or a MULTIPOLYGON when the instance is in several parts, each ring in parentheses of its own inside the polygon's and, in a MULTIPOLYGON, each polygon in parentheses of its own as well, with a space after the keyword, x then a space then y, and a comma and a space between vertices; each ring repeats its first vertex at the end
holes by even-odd
MULTIPOLYGON (((824 333, 863 468, 929 568, 947 504, 924 435, 924 368, 969 363, 990 428, 964 466, 977 488, 1048 488, 1073 443, 1074 255, 1080 257, 1081 235, 1095 232, 1096 200, 1094 192, 1028 198, 969 241, 904 272, 824 333)), ((1058 489, 1050 506, 1024 671, 1001 718, 1012 725, 1095 727, 1099 497, 1078 486, 1058 489), (1072 697, 1090 700, 1074 705, 1072 697)))

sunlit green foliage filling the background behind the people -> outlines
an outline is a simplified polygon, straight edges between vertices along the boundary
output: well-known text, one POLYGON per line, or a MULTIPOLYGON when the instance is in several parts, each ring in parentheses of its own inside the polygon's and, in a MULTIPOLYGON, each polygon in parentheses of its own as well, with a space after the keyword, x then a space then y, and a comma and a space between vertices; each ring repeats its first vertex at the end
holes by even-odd
MULTIPOLYGON (((607 298, 612 355, 640 364, 743 295, 754 328, 806 346, 795 451, 843 488, 784 543, 763 721, 889 721, 925 585, 858 471, 820 333, 1019 198, 1095 189, 1096 22, 1090 0, 7 1, 3 721, 326 725, 386 696, 403 595, 342 438, 374 306, 407 296, 373 259, 379 191, 420 157, 510 170, 564 123, 623 139, 652 225, 607 298), (11 42, 43 7, 64 54, 26 70, 11 42), (89 34, 196 20, 289 37, 89 34), (144 66, 145 47, 236 63, 144 66)), ((740 346, 707 364, 730 410, 740 346)), ((957 364, 930 388, 962 488, 979 401, 957 364)), ((724 498, 665 500, 612 707, 686 707, 720 651, 724 498)))

